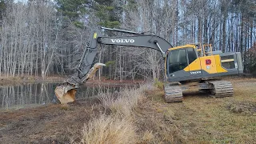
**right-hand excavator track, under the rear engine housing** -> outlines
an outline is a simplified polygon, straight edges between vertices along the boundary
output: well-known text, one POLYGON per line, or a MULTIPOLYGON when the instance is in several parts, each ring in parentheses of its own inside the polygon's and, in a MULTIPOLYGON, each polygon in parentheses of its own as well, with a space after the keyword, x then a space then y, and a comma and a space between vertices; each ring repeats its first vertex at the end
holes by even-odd
POLYGON ((211 83, 212 86, 214 87, 213 89, 210 90, 211 94, 213 94, 214 97, 218 97, 218 98, 230 97, 234 93, 231 82, 210 81, 209 83, 211 83))

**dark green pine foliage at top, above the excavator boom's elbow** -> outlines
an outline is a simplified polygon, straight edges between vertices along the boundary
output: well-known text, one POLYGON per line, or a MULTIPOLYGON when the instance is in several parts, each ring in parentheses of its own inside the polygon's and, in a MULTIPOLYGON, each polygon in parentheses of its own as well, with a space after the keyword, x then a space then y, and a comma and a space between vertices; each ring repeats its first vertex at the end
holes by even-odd
POLYGON ((89 14, 90 10, 99 18, 98 25, 106 27, 118 27, 118 7, 114 6, 113 0, 56 0, 57 10, 67 18, 70 18, 74 26, 83 27, 80 22, 84 15, 89 14))

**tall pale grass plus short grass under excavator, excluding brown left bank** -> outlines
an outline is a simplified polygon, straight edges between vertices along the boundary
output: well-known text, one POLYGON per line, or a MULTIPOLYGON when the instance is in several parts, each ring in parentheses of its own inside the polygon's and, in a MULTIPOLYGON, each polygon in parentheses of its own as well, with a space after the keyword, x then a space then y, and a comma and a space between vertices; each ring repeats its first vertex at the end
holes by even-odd
POLYGON ((181 103, 164 102, 163 90, 152 85, 103 94, 107 113, 84 127, 82 142, 254 143, 256 81, 231 82, 233 97, 212 98, 191 90, 181 103))

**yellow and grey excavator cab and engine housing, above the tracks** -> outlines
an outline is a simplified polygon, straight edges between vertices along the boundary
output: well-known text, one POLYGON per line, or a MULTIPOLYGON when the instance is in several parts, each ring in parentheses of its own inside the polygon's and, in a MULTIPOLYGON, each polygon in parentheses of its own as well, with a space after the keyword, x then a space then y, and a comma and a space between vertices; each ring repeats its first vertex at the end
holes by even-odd
POLYGON ((182 82, 242 73, 240 53, 214 52, 210 44, 170 48, 166 55, 168 82, 182 82))

